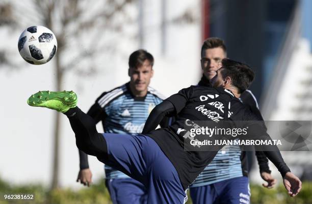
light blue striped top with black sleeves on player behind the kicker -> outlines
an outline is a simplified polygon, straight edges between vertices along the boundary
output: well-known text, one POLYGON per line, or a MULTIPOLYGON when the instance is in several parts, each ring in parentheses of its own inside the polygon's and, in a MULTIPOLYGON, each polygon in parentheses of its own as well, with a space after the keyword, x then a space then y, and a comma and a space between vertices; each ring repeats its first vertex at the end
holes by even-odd
MULTIPOLYGON (((210 81, 203 75, 198 85, 212 87, 210 81)), ((240 101, 252 113, 262 119, 258 103, 250 90, 246 90, 240 96, 240 101)), ((263 152, 255 152, 260 172, 270 172, 268 159, 263 152)), ((200 187, 225 181, 232 178, 248 176, 248 162, 246 152, 239 145, 223 147, 215 156, 213 161, 207 165, 199 174, 190 187, 200 187)))

